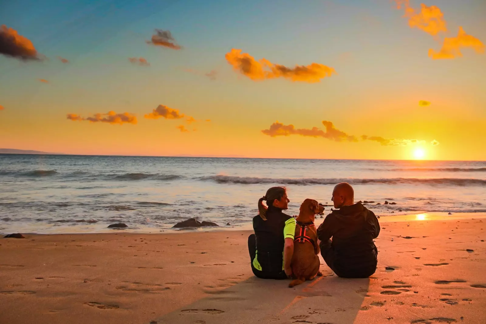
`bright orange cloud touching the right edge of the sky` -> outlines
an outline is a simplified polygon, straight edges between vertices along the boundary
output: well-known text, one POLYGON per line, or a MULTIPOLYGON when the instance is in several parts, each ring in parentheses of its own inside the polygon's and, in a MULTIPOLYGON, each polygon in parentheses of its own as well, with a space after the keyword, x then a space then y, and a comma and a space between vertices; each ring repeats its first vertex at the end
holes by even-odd
POLYGON ((429 56, 433 60, 453 59, 462 56, 461 48, 472 48, 477 53, 485 52, 485 45, 476 37, 466 34, 462 27, 459 27, 457 37, 446 37, 440 51, 429 50, 429 56))

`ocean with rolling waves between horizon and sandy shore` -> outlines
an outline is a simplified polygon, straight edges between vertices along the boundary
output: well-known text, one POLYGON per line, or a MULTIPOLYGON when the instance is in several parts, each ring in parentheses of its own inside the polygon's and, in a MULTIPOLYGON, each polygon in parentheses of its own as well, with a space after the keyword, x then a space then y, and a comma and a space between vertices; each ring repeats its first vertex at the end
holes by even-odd
POLYGON ((306 198, 332 205, 339 182, 381 217, 486 212, 484 161, 0 154, 0 232, 160 231, 190 217, 242 228, 270 187, 287 187, 297 215, 306 198))

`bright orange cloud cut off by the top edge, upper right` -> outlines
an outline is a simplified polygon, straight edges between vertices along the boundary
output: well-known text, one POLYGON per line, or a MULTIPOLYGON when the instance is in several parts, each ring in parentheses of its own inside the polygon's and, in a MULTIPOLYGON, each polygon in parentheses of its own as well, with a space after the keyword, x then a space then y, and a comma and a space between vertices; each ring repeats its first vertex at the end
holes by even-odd
POLYGON ((404 17, 408 18, 410 28, 418 28, 428 34, 435 36, 440 32, 447 32, 447 23, 444 14, 437 6, 426 6, 420 4, 420 11, 412 8, 408 0, 395 0, 398 9, 403 5, 405 9, 404 17))

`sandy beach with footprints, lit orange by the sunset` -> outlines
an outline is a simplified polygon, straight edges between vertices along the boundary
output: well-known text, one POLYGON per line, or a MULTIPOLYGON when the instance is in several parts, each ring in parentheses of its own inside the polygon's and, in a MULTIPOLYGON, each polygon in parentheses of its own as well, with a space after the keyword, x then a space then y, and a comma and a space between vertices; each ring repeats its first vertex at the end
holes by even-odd
POLYGON ((367 279, 251 273, 252 231, 0 239, 1 323, 485 323, 486 214, 384 222, 367 279), (386 267, 391 267, 387 268, 386 267))

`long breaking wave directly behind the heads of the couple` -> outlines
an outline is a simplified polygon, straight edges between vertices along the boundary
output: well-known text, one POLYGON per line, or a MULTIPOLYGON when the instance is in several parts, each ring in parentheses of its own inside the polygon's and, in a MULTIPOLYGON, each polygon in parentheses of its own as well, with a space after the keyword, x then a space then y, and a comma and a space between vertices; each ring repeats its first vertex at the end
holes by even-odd
POLYGON ((352 185, 366 184, 427 184, 427 185, 451 185, 451 186, 485 186, 486 180, 483 179, 462 179, 462 178, 377 178, 377 179, 357 179, 357 178, 258 178, 258 177, 239 177, 231 175, 214 175, 199 178, 203 181, 215 181, 217 183, 228 184, 267 184, 276 183, 283 185, 334 185, 340 182, 347 182, 352 185))

